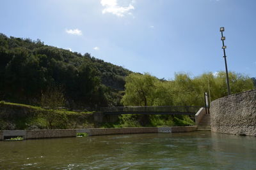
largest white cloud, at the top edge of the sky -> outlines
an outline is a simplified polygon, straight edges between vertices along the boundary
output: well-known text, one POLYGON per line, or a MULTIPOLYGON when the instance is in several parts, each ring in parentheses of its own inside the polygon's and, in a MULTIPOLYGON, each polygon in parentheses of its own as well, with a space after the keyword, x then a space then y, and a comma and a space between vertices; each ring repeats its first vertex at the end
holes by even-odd
POLYGON ((119 6, 117 4, 117 0, 101 0, 100 3, 102 6, 104 6, 104 9, 102 10, 102 13, 112 13, 113 15, 116 15, 117 17, 124 17, 124 15, 129 14, 132 15, 130 10, 134 10, 134 6, 132 6, 132 3, 135 1, 131 1, 129 3, 129 6, 119 6))

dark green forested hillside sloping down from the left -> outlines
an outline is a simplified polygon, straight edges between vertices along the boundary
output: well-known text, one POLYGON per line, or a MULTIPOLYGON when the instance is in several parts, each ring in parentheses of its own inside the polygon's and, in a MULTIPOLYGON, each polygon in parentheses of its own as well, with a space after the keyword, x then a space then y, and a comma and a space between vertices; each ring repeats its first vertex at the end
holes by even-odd
POLYGON ((129 73, 90 53, 0 34, 0 101, 39 105, 47 89, 59 89, 68 108, 116 106, 129 73))

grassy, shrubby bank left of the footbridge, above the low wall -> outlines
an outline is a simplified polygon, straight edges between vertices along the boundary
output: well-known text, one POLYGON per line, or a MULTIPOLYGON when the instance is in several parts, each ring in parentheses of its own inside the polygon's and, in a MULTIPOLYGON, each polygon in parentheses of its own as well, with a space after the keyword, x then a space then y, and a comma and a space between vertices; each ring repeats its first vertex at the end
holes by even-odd
POLYGON ((0 102, 0 130, 73 129, 88 128, 88 125, 94 126, 92 112, 49 110, 38 106, 0 102))

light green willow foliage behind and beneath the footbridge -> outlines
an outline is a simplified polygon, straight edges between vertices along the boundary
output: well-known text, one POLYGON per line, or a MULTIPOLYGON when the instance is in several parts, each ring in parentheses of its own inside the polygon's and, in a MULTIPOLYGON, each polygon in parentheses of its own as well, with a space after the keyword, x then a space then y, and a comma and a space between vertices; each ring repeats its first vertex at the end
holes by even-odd
MULTIPOLYGON (((248 76, 230 72, 229 78, 232 94, 253 89, 252 80, 248 76)), ((204 92, 211 94, 211 101, 227 96, 225 80, 225 72, 222 71, 215 76, 205 73, 195 78, 188 74, 175 74, 175 79, 171 81, 158 80, 148 73, 132 73, 126 78, 122 103, 124 106, 204 106, 204 92)), ((127 116, 125 121, 131 127, 137 126, 137 123, 143 126, 195 124, 188 116, 178 115, 150 115, 143 118, 127 116), (132 125, 132 122, 136 125, 132 125)))

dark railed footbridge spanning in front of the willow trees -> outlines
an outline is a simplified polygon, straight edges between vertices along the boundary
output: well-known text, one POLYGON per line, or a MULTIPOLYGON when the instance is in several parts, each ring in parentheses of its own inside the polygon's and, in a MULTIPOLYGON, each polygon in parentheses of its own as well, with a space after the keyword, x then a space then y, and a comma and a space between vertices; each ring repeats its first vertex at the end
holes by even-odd
POLYGON ((100 111, 102 111, 104 115, 140 114, 195 116, 200 108, 204 108, 204 106, 118 106, 100 108, 100 111))

